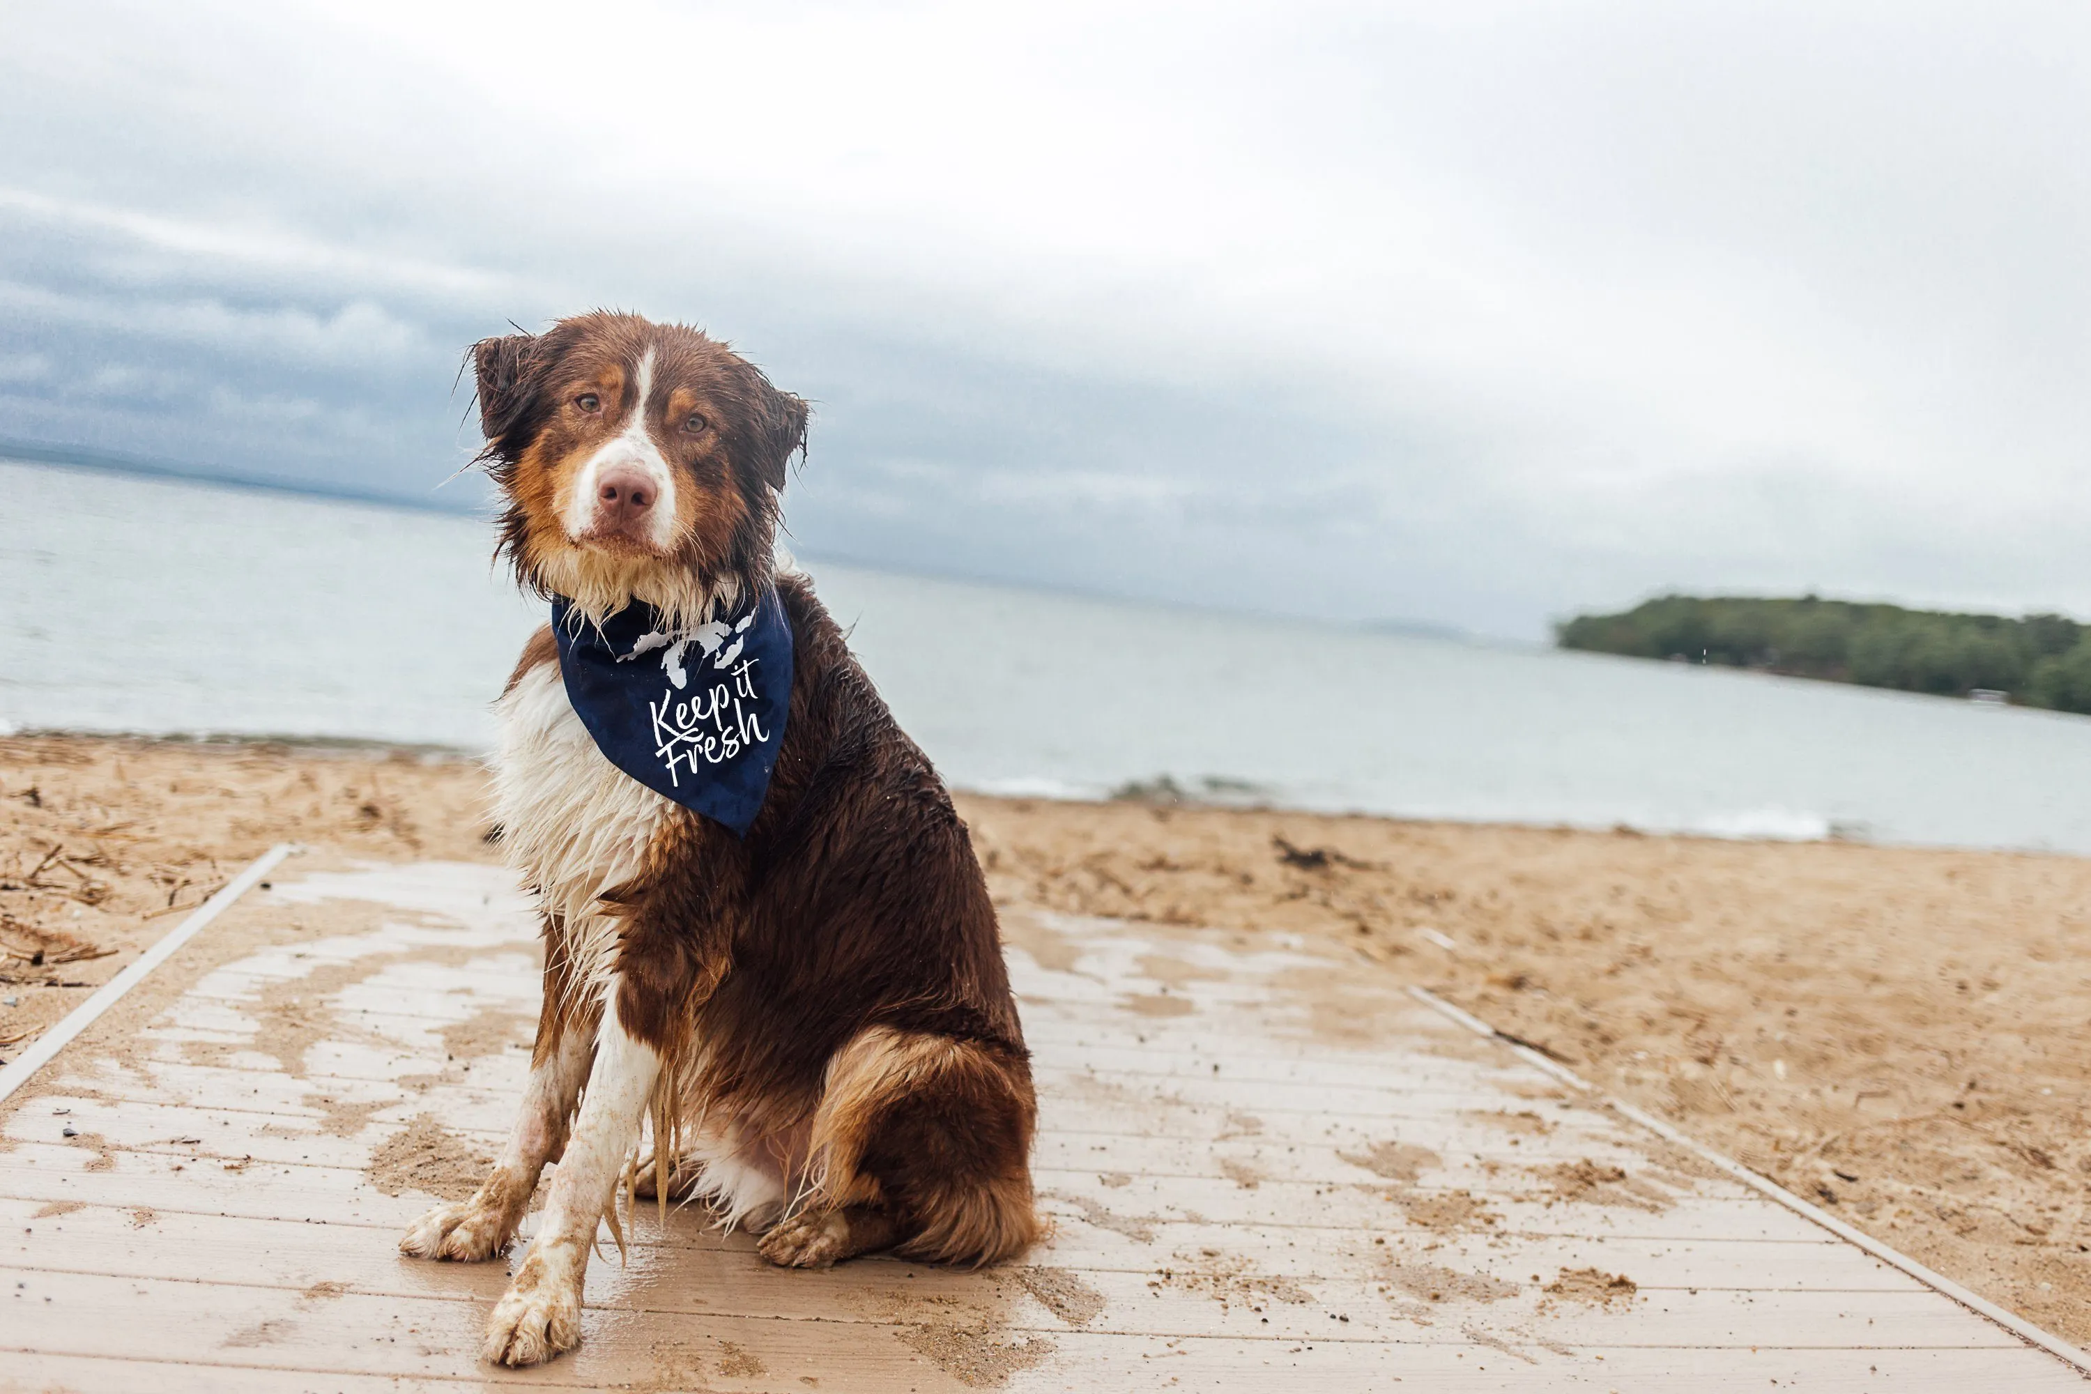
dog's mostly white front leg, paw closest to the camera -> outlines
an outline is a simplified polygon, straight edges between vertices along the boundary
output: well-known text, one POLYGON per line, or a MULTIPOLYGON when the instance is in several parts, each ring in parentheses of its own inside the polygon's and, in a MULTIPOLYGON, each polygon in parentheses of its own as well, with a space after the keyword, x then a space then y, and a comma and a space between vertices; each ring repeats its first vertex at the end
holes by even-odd
POLYGON ((537 1365, 581 1344, 581 1279, 596 1225, 611 1206, 661 1076, 661 1053, 619 1020, 619 980, 611 978, 596 1064, 567 1156, 552 1170, 544 1221, 514 1283, 487 1319, 485 1356, 498 1365, 537 1365))

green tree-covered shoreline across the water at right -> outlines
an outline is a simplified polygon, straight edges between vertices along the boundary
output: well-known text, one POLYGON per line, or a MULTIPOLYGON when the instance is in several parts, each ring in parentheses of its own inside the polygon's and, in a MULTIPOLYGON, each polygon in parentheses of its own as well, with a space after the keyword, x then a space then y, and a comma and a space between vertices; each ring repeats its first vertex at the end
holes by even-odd
POLYGON ((1846 600, 1662 596, 1554 627, 1562 648, 1683 658, 1865 688, 2091 713, 2091 625, 2062 614, 1947 614, 1846 600))

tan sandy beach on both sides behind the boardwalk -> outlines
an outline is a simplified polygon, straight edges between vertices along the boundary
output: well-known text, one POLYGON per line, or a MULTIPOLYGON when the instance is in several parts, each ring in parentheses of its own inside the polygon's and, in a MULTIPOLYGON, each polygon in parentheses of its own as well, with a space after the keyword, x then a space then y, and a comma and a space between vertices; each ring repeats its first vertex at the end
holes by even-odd
MULTIPOLYGON (((416 754, 0 740, 0 1058, 272 842, 489 859, 483 786, 416 754)), ((2091 1342, 2087 859, 960 807, 1016 940, 1031 907, 1332 938, 2091 1342)))

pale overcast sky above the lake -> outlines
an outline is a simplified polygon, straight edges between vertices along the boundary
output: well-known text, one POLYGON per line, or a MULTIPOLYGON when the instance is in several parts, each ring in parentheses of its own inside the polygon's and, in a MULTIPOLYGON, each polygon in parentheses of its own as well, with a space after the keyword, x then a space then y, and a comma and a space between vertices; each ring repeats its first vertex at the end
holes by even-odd
POLYGON ((807 556, 2091 617, 2081 0, 15 0, 0 136, 4 437, 429 497, 613 305, 818 401, 807 556))

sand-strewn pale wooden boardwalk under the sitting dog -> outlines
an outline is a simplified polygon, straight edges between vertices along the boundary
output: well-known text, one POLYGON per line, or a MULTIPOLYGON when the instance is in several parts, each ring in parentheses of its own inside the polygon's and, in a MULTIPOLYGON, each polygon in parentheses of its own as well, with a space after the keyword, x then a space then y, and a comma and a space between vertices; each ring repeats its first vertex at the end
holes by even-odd
POLYGON ((485 865, 293 861, 10 1101, 0 1388, 2081 1388, 1391 974, 1008 924, 1056 1223, 1022 1267, 786 1273, 646 1208, 583 1348, 508 1373, 504 1264, 395 1239, 508 1126, 527 907, 485 865))

